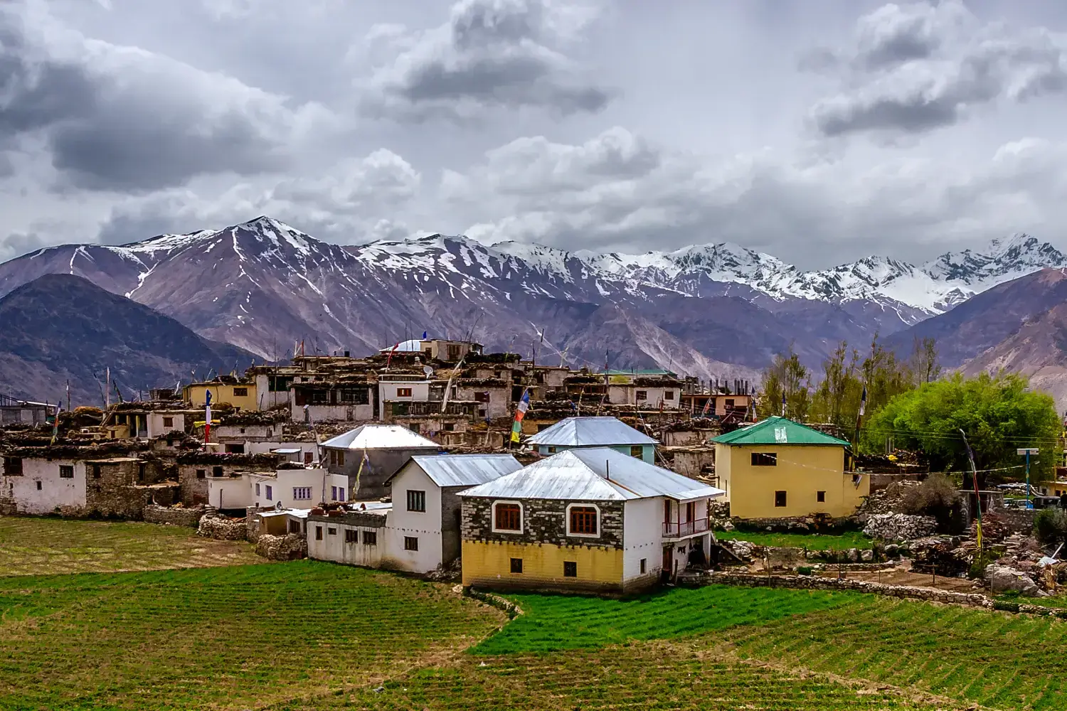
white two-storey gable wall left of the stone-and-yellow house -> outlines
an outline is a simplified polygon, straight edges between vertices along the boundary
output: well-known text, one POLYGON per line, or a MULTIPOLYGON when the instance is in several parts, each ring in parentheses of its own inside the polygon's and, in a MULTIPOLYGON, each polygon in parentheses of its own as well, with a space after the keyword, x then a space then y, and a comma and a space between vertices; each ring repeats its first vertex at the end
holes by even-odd
POLYGON ((441 487, 416 466, 402 467, 389 486, 393 511, 384 532, 391 562, 410 572, 429 572, 444 558, 441 487))

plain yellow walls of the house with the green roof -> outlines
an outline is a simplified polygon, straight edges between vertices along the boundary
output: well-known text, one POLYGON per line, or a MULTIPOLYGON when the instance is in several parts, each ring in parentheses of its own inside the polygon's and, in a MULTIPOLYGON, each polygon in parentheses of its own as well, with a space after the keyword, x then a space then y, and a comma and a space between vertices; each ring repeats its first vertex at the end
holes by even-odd
POLYGON ((715 471, 727 491, 731 516, 781 518, 829 514, 848 516, 871 494, 871 476, 859 486, 844 472, 845 448, 822 446, 715 446, 715 471), (778 455, 774 467, 753 467, 752 453, 778 455), (826 501, 817 501, 817 491, 826 501), (786 505, 775 505, 775 491, 785 491, 786 505))

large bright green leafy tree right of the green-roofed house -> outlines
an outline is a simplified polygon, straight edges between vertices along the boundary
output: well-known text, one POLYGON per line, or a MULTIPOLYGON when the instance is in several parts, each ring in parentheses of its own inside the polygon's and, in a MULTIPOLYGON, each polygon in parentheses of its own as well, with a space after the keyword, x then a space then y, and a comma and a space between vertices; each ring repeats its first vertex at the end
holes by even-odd
MULTIPOLYGON (((972 378, 956 373, 897 393, 867 420, 861 445, 865 451, 880 452, 892 437, 896 447, 924 451, 935 470, 968 471, 960 430, 967 433, 978 470, 1018 467, 1016 450, 1036 447, 1042 455, 1031 462, 1031 478, 1047 479, 1053 472, 1054 453, 1063 451, 1052 398, 1031 391, 1022 375, 1007 373, 972 378)), ((1012 469, 1003 474, 996 479, 1019 479, 1022 472, 1012 469)), ((985 486, 987 479, 980 473, 978 486, 985 486)), ((970 485, 970 476, 965 481, 970 485)))

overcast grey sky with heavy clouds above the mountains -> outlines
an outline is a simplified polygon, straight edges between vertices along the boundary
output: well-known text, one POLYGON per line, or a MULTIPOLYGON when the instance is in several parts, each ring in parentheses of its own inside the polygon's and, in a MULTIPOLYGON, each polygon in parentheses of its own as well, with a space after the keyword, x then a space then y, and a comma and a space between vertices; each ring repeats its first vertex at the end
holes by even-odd
POLYGON ((0 259, 363 243, 1063 245, 1067 3, 0 0, 0 259))

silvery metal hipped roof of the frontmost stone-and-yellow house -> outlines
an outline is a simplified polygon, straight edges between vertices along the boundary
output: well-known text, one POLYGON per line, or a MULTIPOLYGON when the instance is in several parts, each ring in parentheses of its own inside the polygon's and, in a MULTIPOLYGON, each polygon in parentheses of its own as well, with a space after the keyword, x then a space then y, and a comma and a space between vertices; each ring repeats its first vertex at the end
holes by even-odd
POLYGON ((628 501, 666 496, 681 501, 718 497, 722 489, 607 448, 568 450, 461 497, 628 501))

